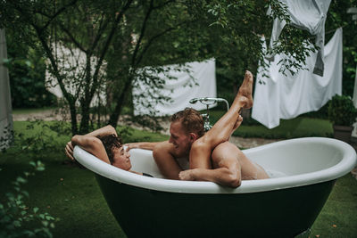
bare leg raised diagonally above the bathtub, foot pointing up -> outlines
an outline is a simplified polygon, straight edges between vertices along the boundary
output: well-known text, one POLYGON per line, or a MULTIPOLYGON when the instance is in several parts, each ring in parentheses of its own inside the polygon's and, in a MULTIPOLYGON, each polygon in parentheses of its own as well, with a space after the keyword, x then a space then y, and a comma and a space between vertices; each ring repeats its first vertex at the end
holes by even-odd
POLYGON ((205 135, 195 141, 190 151, 190 168, 212 168, 211 153, 220 143, 228 141, 232 132, 239 127, 242 108, 253 106, 253 75, 245 71, 245 79, 239 87, 237 96, 230 109, 205 135))

